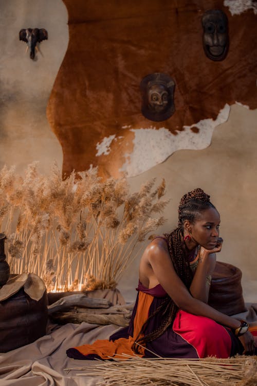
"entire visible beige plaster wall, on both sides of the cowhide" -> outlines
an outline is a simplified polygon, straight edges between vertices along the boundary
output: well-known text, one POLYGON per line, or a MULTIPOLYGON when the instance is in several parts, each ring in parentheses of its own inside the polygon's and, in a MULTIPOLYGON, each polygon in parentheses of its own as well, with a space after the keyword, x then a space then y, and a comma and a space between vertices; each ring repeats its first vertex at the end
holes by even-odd
MULTIPOLYGON (((67 12, 61 0, 2 0, 1 13, 1 109, 0 167, 40 161, 47 173, 56 160, 61 167, 62 149, 46 119, 46 105, 68 43, 67 12), (41 43, 42 54, 32 61, 19 41, 19 30, 46 28, 49 40, 41 43)), ((218 259, 243 271, 245 300, 256 302, 256 142, 257 110, 231 108, 225 124, 215 128, 205 150, 180 150, 152 169, 130 178, 132 190, 152 178, 167 182, 171 202, 161 232, 177 222, 180 197, 195 187, 205 189, 221 213, 224 247, 218 259)), ((138 260, 125 273, 119 288, 134 299, 138 260)))

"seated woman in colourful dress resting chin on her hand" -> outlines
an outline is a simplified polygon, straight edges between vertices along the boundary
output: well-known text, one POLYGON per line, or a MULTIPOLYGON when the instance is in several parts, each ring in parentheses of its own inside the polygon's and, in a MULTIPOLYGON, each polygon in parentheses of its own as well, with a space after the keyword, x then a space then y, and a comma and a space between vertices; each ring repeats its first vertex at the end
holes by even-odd
POLYGON ((128 328, 110 341, 70 348, 67 355, 109 359, 122 353, 166 358, 253 354, 248 324, 207 304, 216 253, 222 249, 219 223, 217 209, 203 190, 183 196, 178 227, 156 237, 142 255, 138 296, 128 328))

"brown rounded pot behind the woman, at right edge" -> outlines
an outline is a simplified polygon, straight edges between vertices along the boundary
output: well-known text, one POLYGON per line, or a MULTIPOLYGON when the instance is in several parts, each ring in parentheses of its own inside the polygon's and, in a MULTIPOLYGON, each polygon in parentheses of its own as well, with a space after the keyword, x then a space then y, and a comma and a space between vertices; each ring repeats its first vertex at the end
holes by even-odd
POLYGON ((246 311, 241 278, 242 272, 239 268, 217 261, 212 275, 208 304, 227 315, 246 311))

